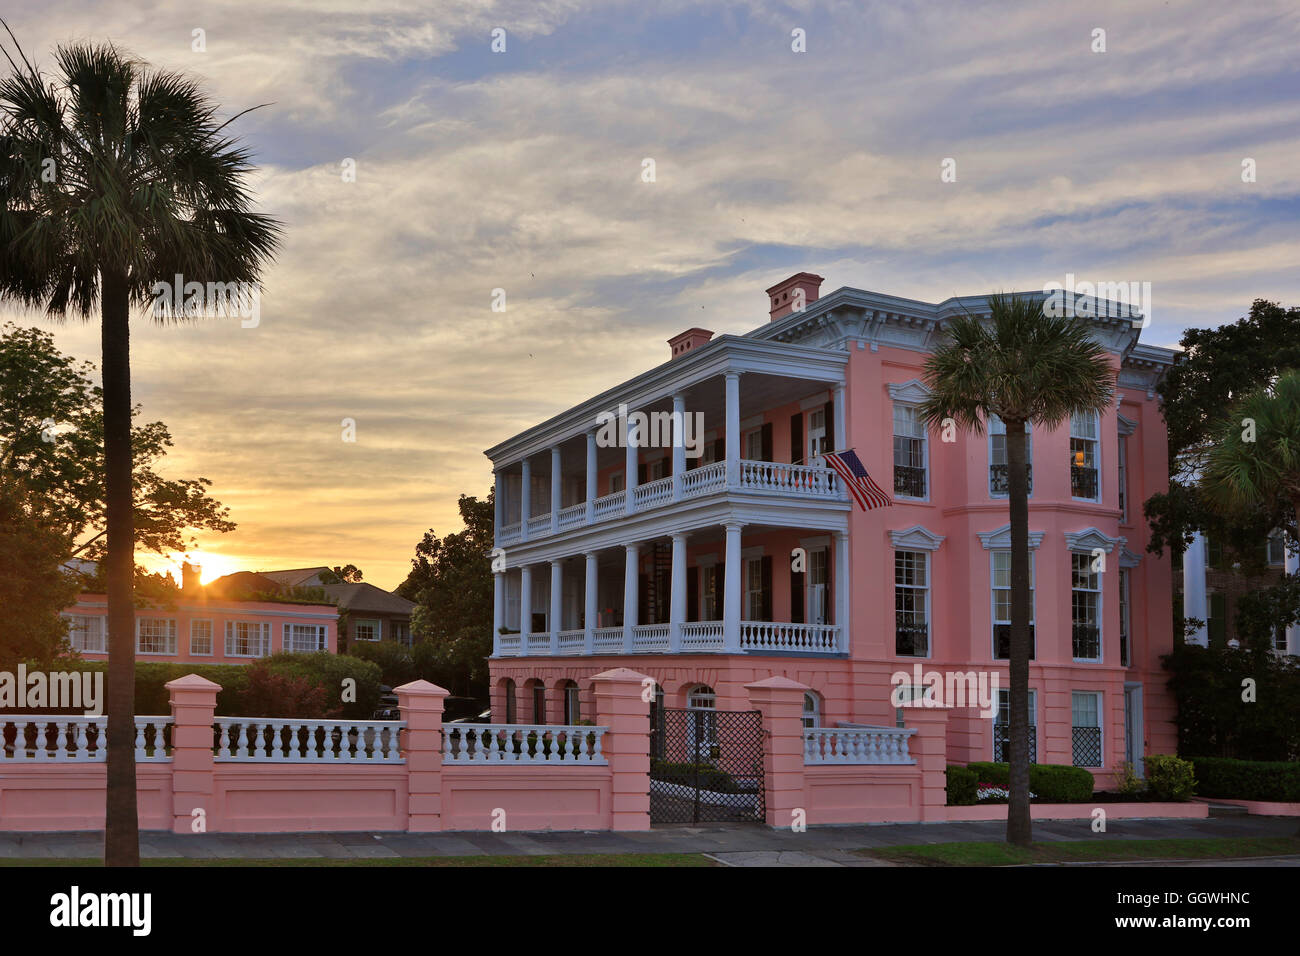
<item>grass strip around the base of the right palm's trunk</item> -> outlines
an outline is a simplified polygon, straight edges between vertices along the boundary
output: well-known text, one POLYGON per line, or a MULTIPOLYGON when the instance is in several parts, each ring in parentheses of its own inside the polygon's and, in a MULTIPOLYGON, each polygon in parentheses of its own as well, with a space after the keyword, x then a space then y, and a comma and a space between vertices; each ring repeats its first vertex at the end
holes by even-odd
POLYGON ((1026 864, 1123 862, 1126 860, 1222 860, 1300 853, 1300 836, 1184 838, 1171 840, 1053 840, 1013 847, 1008 843, 932 843, 855 851, 862 856, 913 866, 1017 866, 1026 864))

